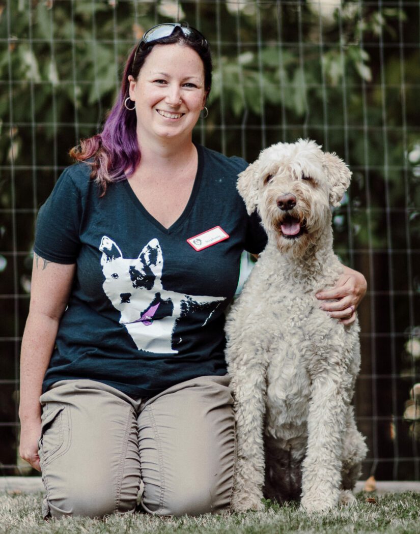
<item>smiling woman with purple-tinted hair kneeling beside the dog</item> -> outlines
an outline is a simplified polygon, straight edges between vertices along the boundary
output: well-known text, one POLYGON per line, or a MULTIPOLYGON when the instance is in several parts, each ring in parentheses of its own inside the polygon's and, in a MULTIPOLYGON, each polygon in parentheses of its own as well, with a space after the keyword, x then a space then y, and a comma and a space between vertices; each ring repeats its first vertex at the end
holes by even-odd
MULTIPOLYGON (((147 512, 229 505, 223 311, 240 254, 266 238, 236 192, 246 163, 192 143, 211 73, 197 30, 146 32, 103 132, 40 210, 19 413, 44 516, 133 512, 141 480, 147 512)), ((320 297, 350 323, 365 281, 345 273, 320 297)))

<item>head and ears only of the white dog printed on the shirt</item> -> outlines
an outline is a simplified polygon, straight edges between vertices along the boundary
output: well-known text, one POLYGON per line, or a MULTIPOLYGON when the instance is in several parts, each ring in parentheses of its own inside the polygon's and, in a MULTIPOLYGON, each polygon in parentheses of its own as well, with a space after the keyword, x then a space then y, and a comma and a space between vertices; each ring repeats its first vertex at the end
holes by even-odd
POLYGON ((123 258, 118 245, 106 235, 99 246, 100 263, 105 276, 104 291, 121 312, 120 322, 132 323, 141 318, 162 289, 162 250, 157 239, 152 239, 137 258, 123 258))

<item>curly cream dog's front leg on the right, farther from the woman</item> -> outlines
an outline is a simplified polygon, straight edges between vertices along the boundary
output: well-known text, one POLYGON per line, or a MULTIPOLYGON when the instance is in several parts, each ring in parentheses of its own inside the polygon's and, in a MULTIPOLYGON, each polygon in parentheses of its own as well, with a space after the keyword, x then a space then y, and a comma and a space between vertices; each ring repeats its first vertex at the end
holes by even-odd
POLYGON ((312 383, 301 500, 308 512, 323 512, 336 506, 340 494, 343 436, 350 399, 344 376, 332 374, 324 373, 312 383))

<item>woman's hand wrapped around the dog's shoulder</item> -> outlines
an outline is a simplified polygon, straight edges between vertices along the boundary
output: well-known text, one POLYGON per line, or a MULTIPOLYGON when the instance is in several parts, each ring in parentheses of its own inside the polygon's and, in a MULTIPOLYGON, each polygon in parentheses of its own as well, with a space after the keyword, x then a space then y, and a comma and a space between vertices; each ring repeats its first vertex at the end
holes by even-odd
POLYGON ((364 297, 367 282, 363 274, 343 265, 343 274, 332 288, 316 294, 319 300, 336 299, 334 302, 323 302, 321 309, 330 317, 340 320, 344 325, 351 325, 356 320, 356 309, 364 297))

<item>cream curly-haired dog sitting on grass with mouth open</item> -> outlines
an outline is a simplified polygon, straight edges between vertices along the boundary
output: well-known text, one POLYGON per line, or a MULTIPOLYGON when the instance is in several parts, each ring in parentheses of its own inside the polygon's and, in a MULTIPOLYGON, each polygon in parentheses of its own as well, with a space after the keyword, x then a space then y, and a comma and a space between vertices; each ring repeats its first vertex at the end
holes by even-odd
POLYGON ((310 512, 354 500, 366 453, 350 404, 359 325, 329 317, 315 297, 341 274, 330 206, 350 177, 337 155, 302 139, 267 148, 239 175, 238 191, 248 213, 258 208, 268 244, 226 325, 234 511, 261 508, 263 496, 300 496, 310 512))

